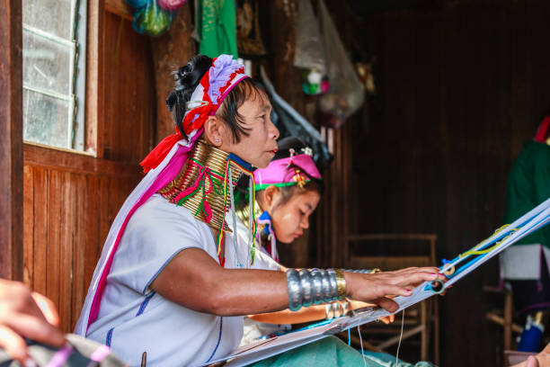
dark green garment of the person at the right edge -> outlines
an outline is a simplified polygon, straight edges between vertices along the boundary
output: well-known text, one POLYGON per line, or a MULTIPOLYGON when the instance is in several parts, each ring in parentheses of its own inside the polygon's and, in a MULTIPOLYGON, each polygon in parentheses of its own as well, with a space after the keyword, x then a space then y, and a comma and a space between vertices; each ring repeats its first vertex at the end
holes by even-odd
MULTIPOLYGON (((504 222, 511 223, 550 197, 550 147, 529 141, 511 167, 504 222)), ((550 248, 550 227, 538 229, 517 245, 542 244, 550 248)))

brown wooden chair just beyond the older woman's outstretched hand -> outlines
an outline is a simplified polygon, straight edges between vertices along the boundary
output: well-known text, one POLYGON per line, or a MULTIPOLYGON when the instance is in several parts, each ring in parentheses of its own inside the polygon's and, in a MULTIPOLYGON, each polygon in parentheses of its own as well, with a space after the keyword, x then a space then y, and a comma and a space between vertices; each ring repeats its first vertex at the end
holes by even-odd
MULTIPOLYGON (((368 234, 347 236, 344 247, 346 267, 350 269, 373 269, 383 271, 402 269, 410 266, 436 265, 435 234, 368 234), (392 246, 382 244, 394 243, 392 246), (362 246, 357 246, 361 244, 362 246), (376 246, 373 246, 377 244, 376 246), (392 248, 387 248, 392 247, 392 248), (385 252, 380 254, 381 249, 385 252), (405 255, 402 255, 405 254, 405 255), (409 255, 406 255, 409 254, 409 255)), ((384 351, 397 345, 401 336, 401 313, 395 316, 390 325, 369 324, 361 328, 363 347, 372 351, 384 351), (380 338, 382 338, 380 340, 380 338)), ((430 342, 433 343, 431 362, 439 364, 439 305, 438 298, 431 297, 405 310, 404 334, 402 340, 421 336, 422 361, 429 361, 430 342)), ((352 336, 357 344, 359 337, 352 336)))

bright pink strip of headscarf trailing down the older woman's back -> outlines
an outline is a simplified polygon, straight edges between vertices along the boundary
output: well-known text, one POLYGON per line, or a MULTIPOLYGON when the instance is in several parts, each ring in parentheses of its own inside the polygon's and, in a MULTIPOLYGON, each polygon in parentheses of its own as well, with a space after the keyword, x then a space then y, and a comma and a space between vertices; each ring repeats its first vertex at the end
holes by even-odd
MULTIPOLYGON (((198 139, 199 135, 200 134, 197 134, 195 139, 198 139)), ((97 290, 93 295, 93 301, 92 301, 92 306, 90 308, 90 316, 88 318, 88 325, 86 326, 86 332, 88 330, 88 327, 90 327, 93 321, 95 321, 99 313, 103 291, 105 290, 105 281, 107 279, 107 275, 111 271, 111 265, 114 259, 114 255, 117 252, 117 248, 119 247, 119 244, 120 244, 120 238, 124 234, 124 230, 126 229, 129 219, 132 217, 134 212, 141 205, 143 205, 151 196, 153 196, 155 192, 162 189, 166 184, 170 183, 173 180, 173 178, 180 173, 180 170, 182 169, 182 166, 185 163, 185 160, 187 159, 187 153, 189 153, 192 147, 193 147, 193 144, 191 144, 190 147, 180 147, 178 151, 174 154, 170 163, 167 166, 165 166, 164 170, 157 176, 155 183, 149 186, 147 191, 141 196, 141 198, 136 202, 136 204, 132 207, 132 209, 129 210, 129 214, 126 217, 126 219, 124 219, 124 222, 122 223, 122 226, 120 227, 119 233, 117 235, 117 238, 114 244, 112 245, 113 249, 111 251, 109 258, 106 261, 105 267, 103 268, 102 275, 97 285, 97 290)))

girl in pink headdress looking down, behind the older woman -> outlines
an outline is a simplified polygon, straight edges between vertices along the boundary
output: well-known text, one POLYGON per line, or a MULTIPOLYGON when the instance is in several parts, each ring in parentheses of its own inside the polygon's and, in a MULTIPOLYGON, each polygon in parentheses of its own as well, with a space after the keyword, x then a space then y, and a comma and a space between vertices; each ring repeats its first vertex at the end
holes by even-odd
MULTIPOLYGON (((323 192, 323 179, 312 158, 313 152, 298 138, 279 140, 279 150, 268 167, 254 171, 255 212, 254 219, 259 226, 256 240, 262 256, 258 266, 264 269, 285 270, 279 264, 277 241, 292 243, 309 228, 309 217, 316 209, 323 192), (267 256, 266 256, 267 255, 267 256), (269 257, 268 257, 269 256, 269 257), (266 260, 267 257, 269 260, 266 260)), ((237 188, 239 195, 236 211, 237 234, 239 243, 244 246, 249 228, 249 198, 246 197, 247 177, 242 177, 237 188), (244 178, 244 179, 243 179, 244 178)), ((345 300, 332 305, 312 306, 299 312, 283 310, 250 318, 264 323, 253 323, 244 319, 244 340, 242 344, 253 341, 254 337, 281 331, 281 327, 272 324, 297 324, 315 321, 344 311, 367 307, 359 301, 345 300), (267 324, 266 324, 267 323, 267 324)), ((393 321, 393 315, 383 322, 393 321)), ((286 329, 287 327, 282 327, 286 329)))

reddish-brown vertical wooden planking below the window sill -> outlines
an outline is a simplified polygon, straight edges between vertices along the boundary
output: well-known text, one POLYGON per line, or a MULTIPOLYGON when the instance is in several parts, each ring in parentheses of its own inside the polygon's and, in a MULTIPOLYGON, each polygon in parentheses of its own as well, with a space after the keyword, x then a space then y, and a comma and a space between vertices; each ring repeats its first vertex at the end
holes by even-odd
POLYGON ((54 301, 65 331, 75 327, 112 219, 139 178, 24 167, 25 281, 54 301))

